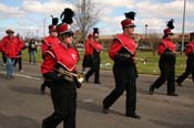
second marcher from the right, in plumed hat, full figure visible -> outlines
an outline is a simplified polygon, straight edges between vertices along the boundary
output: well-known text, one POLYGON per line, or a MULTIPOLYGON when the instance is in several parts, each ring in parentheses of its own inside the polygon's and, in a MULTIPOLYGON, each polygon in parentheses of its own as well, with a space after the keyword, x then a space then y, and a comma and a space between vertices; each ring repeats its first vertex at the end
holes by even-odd
POLYGON ((176 45, 172 41, 174 33, 172 30, 174 20, 167 22, 167 29, 164 30, 164 36, 162 42, 159 44, 157 53, 160 55, 159 66, 161 70, 160 77, 150 86, 150 95, 153 95, 154 89, 159 89, 165 81, 167 81, 167 95, 177 96, 175 93, 175 51, 176 45))

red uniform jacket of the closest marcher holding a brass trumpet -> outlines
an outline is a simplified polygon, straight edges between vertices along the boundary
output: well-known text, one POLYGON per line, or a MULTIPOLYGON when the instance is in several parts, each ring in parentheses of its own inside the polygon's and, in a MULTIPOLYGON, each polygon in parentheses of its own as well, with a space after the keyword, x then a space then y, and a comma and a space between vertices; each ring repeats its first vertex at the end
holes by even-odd
POLYGON ((42 74, 53 71, 53 66, 59 63, 70 72, 76 71, 76 63, 80 60, 79 52, 73 47, 65 47, 61 43, 53 45, 47 51, 44 62, 41 65, 42 74))

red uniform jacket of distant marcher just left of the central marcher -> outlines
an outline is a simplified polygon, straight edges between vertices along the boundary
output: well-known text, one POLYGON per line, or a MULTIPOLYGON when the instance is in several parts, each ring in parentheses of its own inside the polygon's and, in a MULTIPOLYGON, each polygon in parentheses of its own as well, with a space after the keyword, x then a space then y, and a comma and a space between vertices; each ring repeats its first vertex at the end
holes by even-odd
POLYGON ((93 54, 94 50, 100 53, 102 50, 102 45, 99 42, 86 40, 86 42, 85 42, 85 55, 93 54))

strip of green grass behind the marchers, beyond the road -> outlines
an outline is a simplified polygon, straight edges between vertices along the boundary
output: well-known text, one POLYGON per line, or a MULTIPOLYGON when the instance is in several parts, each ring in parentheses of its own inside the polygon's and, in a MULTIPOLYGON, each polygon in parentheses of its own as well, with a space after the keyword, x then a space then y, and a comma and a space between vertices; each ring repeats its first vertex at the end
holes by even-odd
MULTIPOLYGON (((83 51, 79 50, 79 52, 80 52, 79 66, 81 66, 82 58, 83 58, 83 51)), ((136 63, 137 71, 140 74, 154 74, 154 75, 160 74, 159 55, 157 54, 153 55, 153 52, 150 52, 150 51, 137 51, 136 56, 147 60, 145 65, 141 62, 136 63)), ((23 50, 22 58, 23 58, 23 61, 28 62, 28 60, 29 60, 28 50, 23 50)), ((38 50, 38 53, 37 53, 37 62, 39 62, 39 63, 42 62, 40 49, 38 50)), ((177 54, 176 55, 176 65, 175 65, 176 76, 181 75, 184 72, 185 63, 186 63, 186 56, 177 54)), ((109 57, 108 51, 106 50, 102 51, 101 52, 101 70, 112 70, 112 66, 113 66, 113 61, 109 57)))

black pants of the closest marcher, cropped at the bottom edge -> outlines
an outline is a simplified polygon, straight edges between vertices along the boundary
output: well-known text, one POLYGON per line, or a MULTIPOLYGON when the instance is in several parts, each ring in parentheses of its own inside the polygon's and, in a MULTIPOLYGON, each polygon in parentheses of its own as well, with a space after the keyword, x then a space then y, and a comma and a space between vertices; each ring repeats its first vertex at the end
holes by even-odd
POLYGON ((43 119, 42 128, 57 128, 61 121, 63 121, 63 128, 75 128, 75 86, 70 82, 53 84, 51 86, 51 98, 54 113, 43 119))

